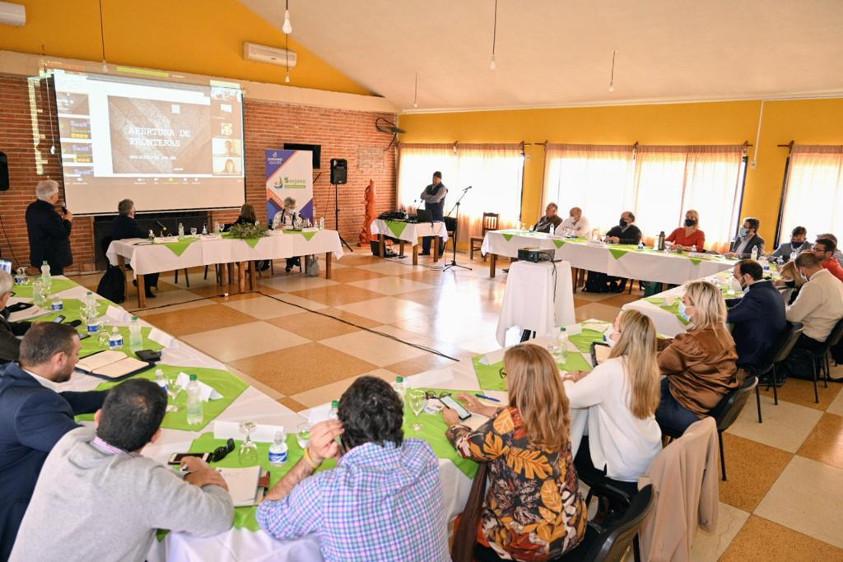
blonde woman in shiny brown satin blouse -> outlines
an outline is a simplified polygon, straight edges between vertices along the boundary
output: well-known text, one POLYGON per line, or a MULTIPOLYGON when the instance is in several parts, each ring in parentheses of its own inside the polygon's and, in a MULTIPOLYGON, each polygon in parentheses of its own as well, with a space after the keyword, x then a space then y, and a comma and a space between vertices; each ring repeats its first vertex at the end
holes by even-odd
POLYGON ((656 421, 671 437, 682 435, 738 387, 738 353, 726 327, 726 301, 720 289, 708 281, 689 283, 679 312, 691 327, 658 357, 665 378, 656 421))

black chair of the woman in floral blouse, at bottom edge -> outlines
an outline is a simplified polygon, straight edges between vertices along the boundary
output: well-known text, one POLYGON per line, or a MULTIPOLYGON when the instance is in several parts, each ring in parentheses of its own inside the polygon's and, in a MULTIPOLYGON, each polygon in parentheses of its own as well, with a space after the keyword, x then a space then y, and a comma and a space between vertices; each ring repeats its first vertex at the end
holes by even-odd
MULTIPOLYGON (((648 485, 635 494, 623 516, 605 529, 589 523, 583 542, 565 556, 557 558, 556 562, 619 562, 638 536, 638 530, 652 507, 653 486, 648 485)), ((636 559, 637 555, 636 552, 636 559)))

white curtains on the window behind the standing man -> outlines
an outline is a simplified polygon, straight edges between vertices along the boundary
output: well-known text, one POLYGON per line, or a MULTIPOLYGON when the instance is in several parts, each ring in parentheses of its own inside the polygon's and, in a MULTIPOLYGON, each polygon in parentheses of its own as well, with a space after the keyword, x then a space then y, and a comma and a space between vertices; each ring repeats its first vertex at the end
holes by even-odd
POLYGON ((471 186, 460 206, 460 242, 480 236, 483 213, 498 213, 499 228, 518 224, 524 157, 521 145, 402 144, 398 160, 398 204, 421 206, 419 195, 442 172, 448 187, 447 214, 471 186))

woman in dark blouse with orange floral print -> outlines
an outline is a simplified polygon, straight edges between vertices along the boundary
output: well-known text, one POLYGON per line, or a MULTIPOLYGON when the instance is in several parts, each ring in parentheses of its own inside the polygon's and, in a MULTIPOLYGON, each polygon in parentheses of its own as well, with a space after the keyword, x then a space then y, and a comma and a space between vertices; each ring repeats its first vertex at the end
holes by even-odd
POLYGON ((461 425, 453 410, 442 414, 457 451, 489 462, 476 559, 557 558, 582 541, 588 519, 571 457, 568 398, 544 348, 516 345, 503 361, 508 407, 460 396, 471 411, 490 418, 476 431, 461 425))

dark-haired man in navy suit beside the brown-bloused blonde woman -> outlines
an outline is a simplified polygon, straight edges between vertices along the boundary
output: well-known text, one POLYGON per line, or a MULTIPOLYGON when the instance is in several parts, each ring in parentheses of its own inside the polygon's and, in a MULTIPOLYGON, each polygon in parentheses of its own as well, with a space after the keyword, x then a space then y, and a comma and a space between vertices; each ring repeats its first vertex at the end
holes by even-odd
POLYGON ((743 298, 726 301, 726 321, 734 326, 738 367, 751 371, 775 352, 773 346, 787 328, 784 299, 771 281, 764 280, 764 270, 756 261, 739 261, 733 275, 749 290, 743 298))

